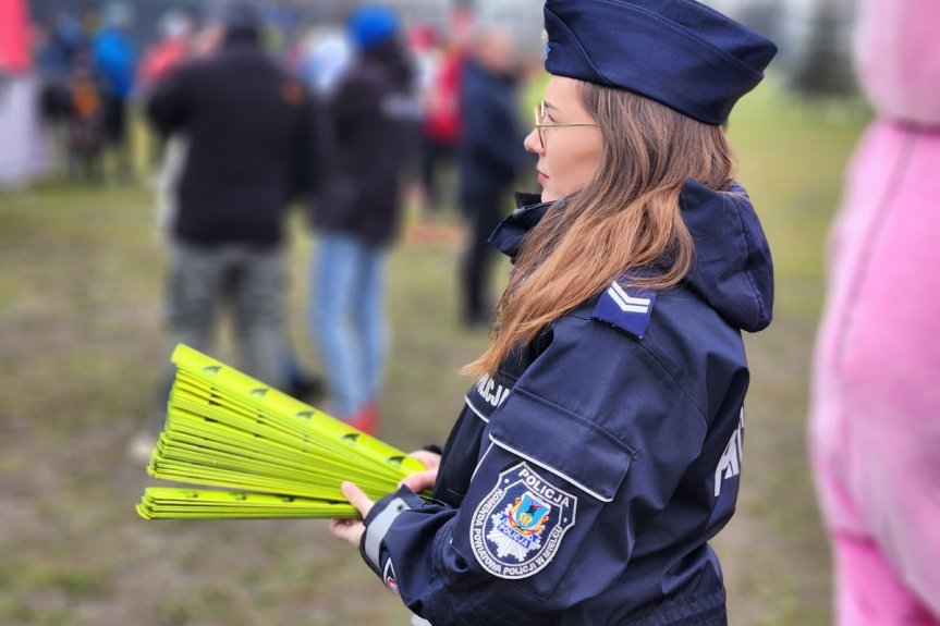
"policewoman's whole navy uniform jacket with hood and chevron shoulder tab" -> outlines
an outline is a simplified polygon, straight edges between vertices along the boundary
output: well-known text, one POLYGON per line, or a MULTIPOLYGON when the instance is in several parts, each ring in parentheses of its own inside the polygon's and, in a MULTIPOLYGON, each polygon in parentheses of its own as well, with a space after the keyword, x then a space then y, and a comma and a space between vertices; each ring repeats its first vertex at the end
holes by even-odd
MULTIPOLYGON (((688 181, 696 260, 659 293, 625 278, 472 386, 434 499, 406 488, 361 551, 434 626, 727 624, 708 547, 734 512, 748 385, 741 330, 770 323, 770 251, 746 193, 688 181)), ((491 241, 514 256, 550 209, 491 241)))

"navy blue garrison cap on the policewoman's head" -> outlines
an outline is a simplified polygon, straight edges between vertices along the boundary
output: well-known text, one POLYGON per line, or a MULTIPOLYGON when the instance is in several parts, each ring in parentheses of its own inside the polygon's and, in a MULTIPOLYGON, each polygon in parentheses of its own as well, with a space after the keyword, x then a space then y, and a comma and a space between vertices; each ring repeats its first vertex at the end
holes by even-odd
POLYGON ((777 46, 693 0, 546 0, 545 69, 723 124, 777 46))

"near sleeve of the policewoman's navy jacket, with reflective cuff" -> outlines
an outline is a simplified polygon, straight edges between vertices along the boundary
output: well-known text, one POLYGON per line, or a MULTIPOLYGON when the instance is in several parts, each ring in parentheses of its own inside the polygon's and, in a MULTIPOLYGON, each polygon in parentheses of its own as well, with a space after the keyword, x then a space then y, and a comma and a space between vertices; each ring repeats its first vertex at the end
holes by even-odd
POLYGON ((367 561, 435 626, 547 624, 611 589, 701 450, 703 413, 643 345, 567 321, 490 416, 459 508, 399 493, 366 520, 367 561))

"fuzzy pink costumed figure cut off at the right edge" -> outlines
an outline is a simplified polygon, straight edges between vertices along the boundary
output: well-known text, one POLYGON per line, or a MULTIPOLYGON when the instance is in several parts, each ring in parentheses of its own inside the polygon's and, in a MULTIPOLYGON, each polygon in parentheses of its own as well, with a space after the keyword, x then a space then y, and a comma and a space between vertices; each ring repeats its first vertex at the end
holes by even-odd
POLYGON ((868 0, 809 445, 839 626, 940 625, 940 3, 868 0))

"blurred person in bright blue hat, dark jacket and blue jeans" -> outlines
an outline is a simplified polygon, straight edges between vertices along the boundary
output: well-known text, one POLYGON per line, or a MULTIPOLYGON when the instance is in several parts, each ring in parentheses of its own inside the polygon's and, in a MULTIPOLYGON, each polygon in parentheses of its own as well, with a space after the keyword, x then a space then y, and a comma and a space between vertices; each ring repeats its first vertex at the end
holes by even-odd
POLYGON ((386 259, 399 234, 418 114, 396 15, 364 5, 347 29, 356 59, 327 103, 330 161, 313 214, 309 315, 329 364, 331 413, 375 432, 387 354, 386 259))

